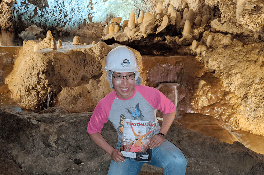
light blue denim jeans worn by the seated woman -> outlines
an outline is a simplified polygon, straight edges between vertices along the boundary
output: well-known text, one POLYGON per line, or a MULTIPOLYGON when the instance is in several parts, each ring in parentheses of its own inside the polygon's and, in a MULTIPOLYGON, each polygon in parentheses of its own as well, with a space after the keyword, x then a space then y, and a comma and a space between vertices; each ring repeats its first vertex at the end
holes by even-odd
MULTIPOLYGON (((116 145, 116 148, 120 149, 121 143, 116 145)), ((151 162, 125 159, 117 164, 112 160, 107 175, 138 175, 144 163, 164 168, 164 175, 184 175, 187 159, 177 146, 166 140, 157 148, 153 148, 151 162)))

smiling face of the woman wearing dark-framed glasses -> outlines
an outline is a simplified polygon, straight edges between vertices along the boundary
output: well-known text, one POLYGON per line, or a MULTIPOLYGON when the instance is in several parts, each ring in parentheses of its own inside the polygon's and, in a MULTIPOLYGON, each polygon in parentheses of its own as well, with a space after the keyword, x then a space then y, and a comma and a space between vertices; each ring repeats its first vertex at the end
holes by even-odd
MULTIPOLYGON (((113 76, 127 76, 134 74, 134 72, 114 72, 113 76)), ((135 90, 135 80, 127 80, 125 77, 122 81, 116 81, 114 77, 112 77, 112 83, 115 88, 115 93, 120 98, 129 98, 133 95, 135 90)))

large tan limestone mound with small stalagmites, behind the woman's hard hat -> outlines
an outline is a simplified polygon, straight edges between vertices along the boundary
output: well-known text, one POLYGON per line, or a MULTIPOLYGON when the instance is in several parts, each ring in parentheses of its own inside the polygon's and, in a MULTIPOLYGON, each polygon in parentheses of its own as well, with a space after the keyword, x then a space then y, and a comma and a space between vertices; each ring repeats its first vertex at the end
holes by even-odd
MULTIPOLYGON (((51 36, 47 34, 43 41, 24 43, 13 71, 5 80, 12 97, 31 110, 45 109, 50 94, 51 105, 70 112, 93 111, 98 101, 112 91, 102 67, 107 53, 118 45, 63 42, 61 49, 50 50, 51 36), (36 45, 39 48, 34 52, 36 45)), ((142 57, 132 50, 142 67, 142 57)))

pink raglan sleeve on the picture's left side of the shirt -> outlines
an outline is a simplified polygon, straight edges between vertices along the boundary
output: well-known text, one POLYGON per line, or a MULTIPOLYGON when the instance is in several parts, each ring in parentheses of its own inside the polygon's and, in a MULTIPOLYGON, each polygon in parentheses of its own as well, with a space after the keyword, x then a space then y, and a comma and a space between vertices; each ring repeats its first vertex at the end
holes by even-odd
POLYGON ((112 101, 109 99, 109 96, 105 97, 106 99, 102 99, 96 105, 95 110, 91 116, 90 121, 88 122, 87 132, 89 134, 93 133, 101 133, 101 129, 103 128, 103 124, 108 121, 108 116, 111 110, 112 101))

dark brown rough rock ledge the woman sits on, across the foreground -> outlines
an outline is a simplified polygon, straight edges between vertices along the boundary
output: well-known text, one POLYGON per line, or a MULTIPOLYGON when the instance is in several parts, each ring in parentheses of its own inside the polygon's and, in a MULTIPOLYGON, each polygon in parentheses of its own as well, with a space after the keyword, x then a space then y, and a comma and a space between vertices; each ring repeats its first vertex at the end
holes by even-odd
MULTIPOLYGON (((96 146, 86 132, 91 114, 70 114, 59 108, 50 108, 42 114, 1 108, 3 146, 0 160, 4 165, 1 171, 13 174, 107 174, 110 156, 96 146)), ((112 146, 117 142, 116 131, 110 122, 104 125, 102 135, 112 146)), ((188 160, 186 174, 263 173, 264 155, 239 142, 223 143, 188 130, 178 122, 174 122, 167 135, 188 160)), ((161 168, 144 165, 139 174, 160 173, 161 168)))

